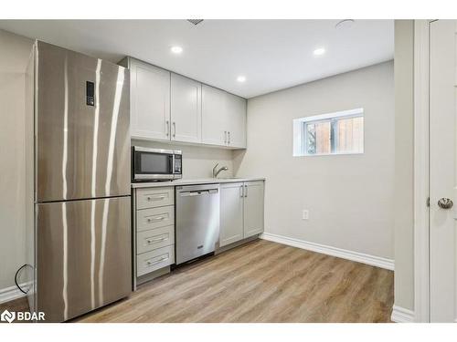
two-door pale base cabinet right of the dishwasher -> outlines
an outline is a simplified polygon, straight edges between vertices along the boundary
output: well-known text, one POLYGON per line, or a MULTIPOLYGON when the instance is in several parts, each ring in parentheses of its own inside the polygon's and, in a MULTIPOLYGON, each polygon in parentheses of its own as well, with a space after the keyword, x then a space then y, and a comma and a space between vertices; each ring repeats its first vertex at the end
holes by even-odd
POLYGON ((263 181, 220 184, 219 247, 263 232, 263 181))

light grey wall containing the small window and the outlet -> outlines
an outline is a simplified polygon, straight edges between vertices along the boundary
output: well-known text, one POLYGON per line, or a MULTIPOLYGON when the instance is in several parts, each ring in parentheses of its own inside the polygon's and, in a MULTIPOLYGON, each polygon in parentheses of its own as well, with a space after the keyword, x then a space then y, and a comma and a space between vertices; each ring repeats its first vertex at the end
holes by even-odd
POLYGON ((393 258, 393 62, 250 98, 237 176, 265 176, 265 231, 393 258), (365 110, 365 154, 292 157, 292 119, 365 110), (302 210, 309 220, 302 220, 302 210))

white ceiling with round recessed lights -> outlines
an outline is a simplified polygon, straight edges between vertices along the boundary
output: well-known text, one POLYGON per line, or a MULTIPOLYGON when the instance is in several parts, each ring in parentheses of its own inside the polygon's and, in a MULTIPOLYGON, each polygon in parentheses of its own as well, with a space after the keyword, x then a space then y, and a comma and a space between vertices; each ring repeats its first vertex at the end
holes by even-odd
POLYGON ((0 20, 0 28, 112 62, 137 57, 251 98, 393 58, 392 20, 336 29, 338 21, 0 20), (317 47, 326 53, 315 57, 317 47))

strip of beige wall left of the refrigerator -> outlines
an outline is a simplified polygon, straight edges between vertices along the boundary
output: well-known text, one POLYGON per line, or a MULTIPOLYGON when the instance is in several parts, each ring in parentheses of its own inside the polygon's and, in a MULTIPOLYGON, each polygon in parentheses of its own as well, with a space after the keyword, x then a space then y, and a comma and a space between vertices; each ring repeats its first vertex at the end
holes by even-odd
POLYGON ((25 264, 25 78, 33 41, 0 30, 0 295, 25 264))

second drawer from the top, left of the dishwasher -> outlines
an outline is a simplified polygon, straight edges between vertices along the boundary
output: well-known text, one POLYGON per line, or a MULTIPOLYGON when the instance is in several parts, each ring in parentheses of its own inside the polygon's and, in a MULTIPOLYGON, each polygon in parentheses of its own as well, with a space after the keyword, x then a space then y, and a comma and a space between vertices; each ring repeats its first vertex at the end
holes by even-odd
POLYGON ((175 206, 143 209, 136 212, 136 231, 142 232, 154 228, 175 224, 175 206))

